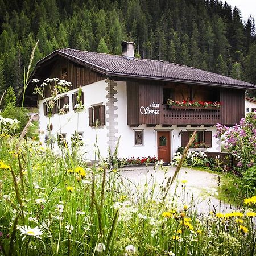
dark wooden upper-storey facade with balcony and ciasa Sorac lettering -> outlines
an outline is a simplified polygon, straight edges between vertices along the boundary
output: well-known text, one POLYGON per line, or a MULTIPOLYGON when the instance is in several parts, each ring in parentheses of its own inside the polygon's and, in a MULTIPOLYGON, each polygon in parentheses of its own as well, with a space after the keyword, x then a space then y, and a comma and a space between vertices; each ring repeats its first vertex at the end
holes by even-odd
POLYGON ((133 127, 141 124, 234 125, 244 116, 244 109, 245 90, 241 89, 171 82, 127 81, 127 123, 133 127), (221 107, 172 106, 170 108, 166 104, 167 98, 177 101, 220 101, 221 107), (155 110, 159 110, 159 114, 156 114, 158 112, 155 110))

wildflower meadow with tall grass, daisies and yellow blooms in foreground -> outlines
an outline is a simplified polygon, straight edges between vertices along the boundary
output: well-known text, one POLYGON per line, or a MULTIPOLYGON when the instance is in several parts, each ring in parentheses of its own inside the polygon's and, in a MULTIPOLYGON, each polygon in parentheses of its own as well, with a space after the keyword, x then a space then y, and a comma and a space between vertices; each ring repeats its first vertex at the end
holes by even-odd
MULTIPOLYGON (((255 255, 256 197, 238 211, 197 213, 189 181, 176 183, 188 146, 173 176, 143 190, 104 159, 56 154, 26 127, 13 133, 18 121, 0 127, 1 255, 255 255)), ((156 162, 155 172, 165 168, 156 162)))

